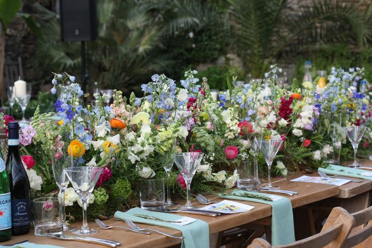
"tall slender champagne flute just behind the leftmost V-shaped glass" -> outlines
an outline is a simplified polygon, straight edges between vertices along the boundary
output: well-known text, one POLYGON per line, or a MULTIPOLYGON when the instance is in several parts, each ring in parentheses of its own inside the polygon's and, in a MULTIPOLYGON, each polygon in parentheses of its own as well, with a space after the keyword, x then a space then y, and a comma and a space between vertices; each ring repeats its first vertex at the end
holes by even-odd
MULTIPOLYGON (((71 149, 71 146, 68 146, 67 149, 71 149)), ((66 225, 65 190, 70 182, 63 170, 72 167, 72 156, 68 155, 67 149, 65 147, 51 147, 53 176, 62 198, 63 231, 76 230, 76 228, 66 225)))

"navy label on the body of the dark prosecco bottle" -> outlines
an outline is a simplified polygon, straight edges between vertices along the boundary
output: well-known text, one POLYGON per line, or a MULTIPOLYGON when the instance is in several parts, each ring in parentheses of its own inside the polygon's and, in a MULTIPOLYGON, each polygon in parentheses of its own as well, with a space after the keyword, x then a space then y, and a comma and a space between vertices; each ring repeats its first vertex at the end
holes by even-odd
POLYGON ((24 226, 30 224, 30 199, 12 200, 12 225, 24 226))

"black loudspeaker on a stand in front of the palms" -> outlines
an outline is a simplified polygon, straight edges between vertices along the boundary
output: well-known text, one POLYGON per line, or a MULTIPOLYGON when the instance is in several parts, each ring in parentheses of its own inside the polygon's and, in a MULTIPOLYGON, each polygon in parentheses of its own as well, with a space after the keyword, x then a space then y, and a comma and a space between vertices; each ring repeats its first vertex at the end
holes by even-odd
POLYGON ((97 38, 96 0, 60 0, 61 36, 65 42, 97 38))

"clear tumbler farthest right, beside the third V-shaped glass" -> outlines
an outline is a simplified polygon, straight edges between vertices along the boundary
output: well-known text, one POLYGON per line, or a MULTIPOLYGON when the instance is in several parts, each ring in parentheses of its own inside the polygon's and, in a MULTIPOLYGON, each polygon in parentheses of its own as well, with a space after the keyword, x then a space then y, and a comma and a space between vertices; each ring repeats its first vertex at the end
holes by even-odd
POLYGON ((240 164, 236 166, 236 171, 239 174, 239 179, 237 180, 239 189, 250 190, 258 186, 255 175, 256 164, 255 161, 241 161, 240 164))

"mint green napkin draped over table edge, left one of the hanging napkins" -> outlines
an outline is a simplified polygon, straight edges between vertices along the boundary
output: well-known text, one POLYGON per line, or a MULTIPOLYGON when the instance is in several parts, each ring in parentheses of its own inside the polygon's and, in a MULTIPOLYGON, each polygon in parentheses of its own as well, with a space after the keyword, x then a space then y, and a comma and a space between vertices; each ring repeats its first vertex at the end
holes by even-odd
POLYGON ((128 210, 127 212, 116 211, 114 216, 116 219, 120 220, 127 219, 137 223, 145 223, 149 225, 169 227, 176 230, 180 230, 182 232, 182 235, 184 236, 184 238, 182 239, 181 246, 183 248, 209 247, 209 225, 205 221, 197 220, 188 225, 179 226, 173 223, 144 219, 141 217, 134 216, 134 214, 154 216, 161 218, 163 220, 170 221, 175 221, 177 219, 182 218, 182 216, 175 214, 152 212, 140 208, 134 208, 128 210))

